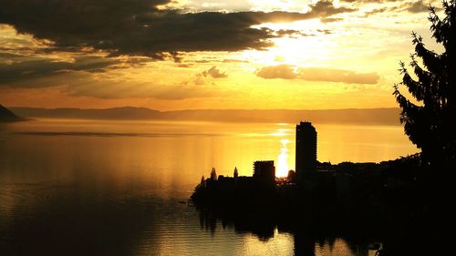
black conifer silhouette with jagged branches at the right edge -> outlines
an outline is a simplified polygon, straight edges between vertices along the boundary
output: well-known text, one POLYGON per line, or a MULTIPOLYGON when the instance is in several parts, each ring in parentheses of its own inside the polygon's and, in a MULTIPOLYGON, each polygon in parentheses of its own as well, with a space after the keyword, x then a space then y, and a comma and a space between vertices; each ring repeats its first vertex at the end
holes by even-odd
POLYGON ((430 6, 429 20, 432 37, 444 51, 438 54, 427 49, 422 37, 413 32, 415 53, 410 55, 410 66, 417 79, 400 62, 403 78, 399 85, 408 87, 416 103, 399 92, 399 85, 393 93, 402 108, 405 133, 421 149, 422 164, 427 167, 454 166, 456 153, 456 0, 442 1, 442 5, 446 16, 440 19, 430 6))

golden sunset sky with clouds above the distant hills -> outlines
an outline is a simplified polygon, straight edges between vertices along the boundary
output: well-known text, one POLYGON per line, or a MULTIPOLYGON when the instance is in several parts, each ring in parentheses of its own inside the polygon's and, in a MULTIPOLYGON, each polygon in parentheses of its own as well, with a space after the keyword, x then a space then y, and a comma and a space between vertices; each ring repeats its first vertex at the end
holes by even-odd
POLYGON ((0 0, 7 107, 391 108, 409 0, 0 0))

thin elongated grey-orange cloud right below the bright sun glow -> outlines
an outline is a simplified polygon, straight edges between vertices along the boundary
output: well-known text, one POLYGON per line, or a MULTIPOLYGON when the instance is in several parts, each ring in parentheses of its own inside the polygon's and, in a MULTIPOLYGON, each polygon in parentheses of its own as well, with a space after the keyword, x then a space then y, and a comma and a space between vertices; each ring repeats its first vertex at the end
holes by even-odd
POLYGON ((357 73, 350 70, 323 67, 279 65, 263 67, 256 72, 264 79, 301 79, 306 81, 342 82, 347 84, 377 84, 377 73, 357 73))

